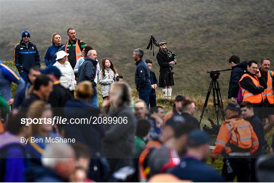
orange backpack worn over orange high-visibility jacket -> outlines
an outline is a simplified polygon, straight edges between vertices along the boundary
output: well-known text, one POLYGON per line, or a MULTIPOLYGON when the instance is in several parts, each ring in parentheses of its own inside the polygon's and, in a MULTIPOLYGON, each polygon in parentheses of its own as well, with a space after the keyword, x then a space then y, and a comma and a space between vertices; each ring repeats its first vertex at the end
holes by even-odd
POLYGON ((237 119, 229 121, 228 124, 231 126, 230 144, 242 150, 249 150, 252 147, 252 126, 250 122, 237 119))

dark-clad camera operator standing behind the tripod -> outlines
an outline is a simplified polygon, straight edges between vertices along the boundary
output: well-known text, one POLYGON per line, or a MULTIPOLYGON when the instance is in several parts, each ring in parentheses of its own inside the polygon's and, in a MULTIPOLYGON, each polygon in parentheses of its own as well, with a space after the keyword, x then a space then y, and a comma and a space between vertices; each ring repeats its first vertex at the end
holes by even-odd
POLYGON ((239 79, 241 79, 244 71, 247 68, 247 61, 241 62, 240 58, 236 55, 232 55, 229 60, 231 66, 229 87, 228 87, 228 99, 231 102, 237 102, 238 90, 239 90, 239 79))

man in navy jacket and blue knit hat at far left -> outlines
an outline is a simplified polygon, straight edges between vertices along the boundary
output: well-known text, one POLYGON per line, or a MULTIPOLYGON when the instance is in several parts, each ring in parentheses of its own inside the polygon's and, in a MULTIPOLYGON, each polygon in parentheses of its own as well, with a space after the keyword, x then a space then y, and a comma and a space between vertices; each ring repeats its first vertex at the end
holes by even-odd
POLYGON ((28 82, 29 69, 33 65, 41 66, 40 56, 36 45, 29 41, 30 32, 24 30, 22 32, 22 39, 15 45, 13 52, 13 61, 20 76, 24 81, 28 82))

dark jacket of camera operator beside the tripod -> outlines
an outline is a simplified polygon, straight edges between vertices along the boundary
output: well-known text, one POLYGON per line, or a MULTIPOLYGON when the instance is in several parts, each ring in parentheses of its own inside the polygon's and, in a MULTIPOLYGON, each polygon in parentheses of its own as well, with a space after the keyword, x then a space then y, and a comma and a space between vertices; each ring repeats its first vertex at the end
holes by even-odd
POLYGON ((238 97, 239 90, 239 80, 241 79, 244 71, 246 70, 248 65, 247 61, 241 62, 232 67, 230 73, 229 87, 228 87, 228 99, 234 97, 238 97))

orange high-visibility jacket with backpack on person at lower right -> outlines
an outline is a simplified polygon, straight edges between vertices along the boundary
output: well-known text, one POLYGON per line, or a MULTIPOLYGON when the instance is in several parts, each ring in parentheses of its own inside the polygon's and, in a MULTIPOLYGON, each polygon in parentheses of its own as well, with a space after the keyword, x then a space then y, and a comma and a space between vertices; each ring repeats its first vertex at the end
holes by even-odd
POLYGON ((225 152, 230 157, 249 157, 258 147, 259 141, 250 122, 243 118, 232 118, 225 120, 221 125, 212 156, 217 157, 225 152), (236 130, 238 133, 235 133, 236 130), (240 133, 242 136, 238 135, 240 133), (239 148, 239 146, 242 148, 239 148), (235 147, 237 150, 235 150, 235 147))

